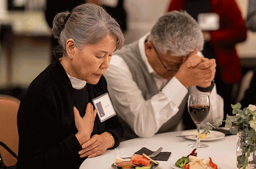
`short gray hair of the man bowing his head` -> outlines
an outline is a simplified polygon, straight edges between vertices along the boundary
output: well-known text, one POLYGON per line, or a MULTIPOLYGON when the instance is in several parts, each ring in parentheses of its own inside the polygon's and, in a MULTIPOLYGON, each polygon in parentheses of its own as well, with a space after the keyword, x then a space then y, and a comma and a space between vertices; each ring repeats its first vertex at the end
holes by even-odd
POLYGON ((193 17, 185 11, 172 11, 160 17, 149 35, 155 47, 172 56, 187 56, 195 48, 201 51, 204 37, 201 28, 193 17))

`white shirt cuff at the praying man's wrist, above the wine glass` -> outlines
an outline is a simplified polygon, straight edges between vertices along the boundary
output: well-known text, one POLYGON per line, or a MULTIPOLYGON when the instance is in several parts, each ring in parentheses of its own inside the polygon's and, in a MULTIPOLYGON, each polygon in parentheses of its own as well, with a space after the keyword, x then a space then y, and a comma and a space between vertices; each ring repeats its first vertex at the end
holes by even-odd
POLYGON ((162 89, 166 95, 175 105, 180 105, 184 97, 187 95, 187 88, 182 85, 180 81, 174 76, 162 89))

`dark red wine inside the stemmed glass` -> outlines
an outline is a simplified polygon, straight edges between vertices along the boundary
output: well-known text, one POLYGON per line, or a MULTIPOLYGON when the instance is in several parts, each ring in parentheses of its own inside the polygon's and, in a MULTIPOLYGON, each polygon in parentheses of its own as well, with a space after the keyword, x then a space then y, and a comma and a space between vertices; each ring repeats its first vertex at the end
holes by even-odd
POLYGON ((210 106, 208 105, 190 105, 189 113, 195 123, 203 122, 208 116, 210 106))

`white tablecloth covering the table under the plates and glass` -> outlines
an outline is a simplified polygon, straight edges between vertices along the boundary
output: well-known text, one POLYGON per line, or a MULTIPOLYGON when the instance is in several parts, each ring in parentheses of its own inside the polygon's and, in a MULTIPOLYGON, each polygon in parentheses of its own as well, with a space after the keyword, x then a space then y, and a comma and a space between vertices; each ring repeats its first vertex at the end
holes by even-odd
MULTIPOLYGON (((188 140, 182 137, 179 132, 169 132, 155 134, 152 138, 135 138, 121 142, 114 150, 107 150, 103 155, 86 159, 80 169, 111 169, 111 164, 114 163, 116 157, 130 157, 142 147, 155 151, 160 146, 164 149, 162 152, 172 152, 168 161, 158 161, 158 169, 172 169, 171 164, 177 159, 187 156, 194 148, 188 144, 195 141, 188 140)), ((212 158, 214 163, 220 165, 221 169, 237 169, 236 167, 236 145, 238 136, 225 136, 220 140, 204 142, 209 145, 208 148, 197 148, 197 157, 209 160, 212 158)))

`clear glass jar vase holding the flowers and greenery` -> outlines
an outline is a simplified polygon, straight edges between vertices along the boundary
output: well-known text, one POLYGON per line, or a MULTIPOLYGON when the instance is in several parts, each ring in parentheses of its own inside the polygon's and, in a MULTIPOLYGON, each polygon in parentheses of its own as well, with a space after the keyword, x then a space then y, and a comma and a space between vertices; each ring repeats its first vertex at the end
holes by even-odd
POLYGON ((254 134, 239 132, 238 136, 239 139, 237 141, 237 168, 256 169, 256 141, 252 140, 254 134), (244 166, 247 156, 248 162, 247 165, 244 166))

